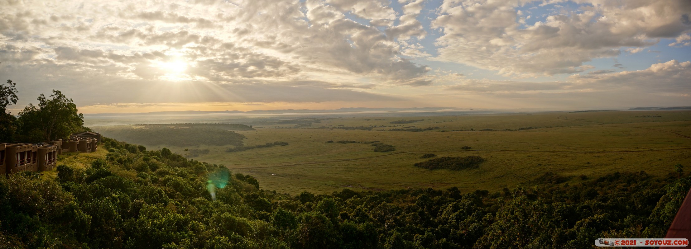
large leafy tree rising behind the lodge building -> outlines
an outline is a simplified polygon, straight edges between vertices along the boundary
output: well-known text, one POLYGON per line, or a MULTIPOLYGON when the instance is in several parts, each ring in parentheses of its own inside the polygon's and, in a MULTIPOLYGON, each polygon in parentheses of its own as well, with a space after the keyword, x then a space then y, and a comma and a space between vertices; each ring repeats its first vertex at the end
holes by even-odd
POLYGON ((53 90, 49 98, 41 94, 38 101, 37 106, 29 104, 19 112, 27 141, 68 139, 84 125, 84 115, 77 113, 77 105, 59 90, 53 90))

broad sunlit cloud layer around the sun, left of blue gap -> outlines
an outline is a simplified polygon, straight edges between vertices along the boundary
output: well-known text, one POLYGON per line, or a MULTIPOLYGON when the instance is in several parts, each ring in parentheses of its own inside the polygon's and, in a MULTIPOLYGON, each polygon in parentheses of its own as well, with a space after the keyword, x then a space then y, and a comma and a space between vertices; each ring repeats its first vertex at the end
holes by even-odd
MULTIPOLYGON (((83 95, 122 88, 120 83, 131 91, 169 88, 164 81, 232 86, 258 102, 390 100, 348 89, 428 85, 429 68, 404 55, 427 55, 419 43, 404 42, 426 34, 416 19, 423 2, 406 3, 397 13, 388 1, 376 0, 5 1, 0 72, 21 81, 20 98, 26 102, 39 87, 83 95), (347 14, 388 24, 380 30, 347 14)), ((99 103, 135 101, 129 91, 115 90, 99 103)), ((207 101, 229 101, 213 91, 205 94, 207 101)))

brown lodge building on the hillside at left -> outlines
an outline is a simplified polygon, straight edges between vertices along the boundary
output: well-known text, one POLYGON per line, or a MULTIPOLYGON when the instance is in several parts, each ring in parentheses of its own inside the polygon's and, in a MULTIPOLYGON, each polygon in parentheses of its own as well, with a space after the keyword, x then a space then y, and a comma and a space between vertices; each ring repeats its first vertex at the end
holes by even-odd
POLYGON ((0 143, 0 174, 53 170, 57 155, 65 152, 95 152, 96 138, 82 137, 48 143, 0 143))

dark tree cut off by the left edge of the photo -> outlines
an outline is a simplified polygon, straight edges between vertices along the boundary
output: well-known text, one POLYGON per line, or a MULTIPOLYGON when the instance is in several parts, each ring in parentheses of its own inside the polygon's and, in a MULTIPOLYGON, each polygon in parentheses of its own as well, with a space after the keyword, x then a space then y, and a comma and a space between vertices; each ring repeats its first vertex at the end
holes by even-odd
POLYGON ((17 83, 7 80, 7 86, 0 85, 0 141, 14 141, 17 131, 17 117, 7 112, 7 107, 17 104, 17 83))

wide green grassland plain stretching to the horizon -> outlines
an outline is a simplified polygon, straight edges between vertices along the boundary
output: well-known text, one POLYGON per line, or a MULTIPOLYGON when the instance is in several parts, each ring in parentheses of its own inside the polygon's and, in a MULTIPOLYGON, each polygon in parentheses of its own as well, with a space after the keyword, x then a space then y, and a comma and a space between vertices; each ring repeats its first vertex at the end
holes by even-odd
MULTIPOLYGON (((274 141, 285 141, 290 146, 243 152, 225 152, 228 146, 187 148, 209 149, 209 154, 194 159, 223 164, 234 173, 253 175, 262 188, 292 194, 304 190, 328 193, 341 188, 457 186, 463 191, 499 190, 526 183, 545 172, 573 176, 571 182, 576 182, 580 181, 576 177, 579 175, 598 177, 615 171, 645 170, 657 177, 667 177, 676 163, 691 165, 690 111, 321 117, 316 122, 301 128, 283 122, 279 126, 236 131, 247 137, 246 146, 274 141), (389 123, 404 119, 422 121, 389 123), (338 128, 349 126, 389 127, 338 128), (392 126, 439 128, 424 132, 388 131, 392 126), (479 131, 483 129, 492 130, 479 131), (396 146, 396 150, 373 152, 369 144, 325 143, 328 140, 378 140, 396 146), (464 150, 463 146, 471 149, 464 150), (476 155, 486 161, 479 168, 459 171, 415 168, 414 163, 426 160, 419 158, 425 153, 439 157, 476 155)), ((144 145, 149 149, 164 147, 144 145)), ((180 154, 186 149, 167 147, 180 154)))

